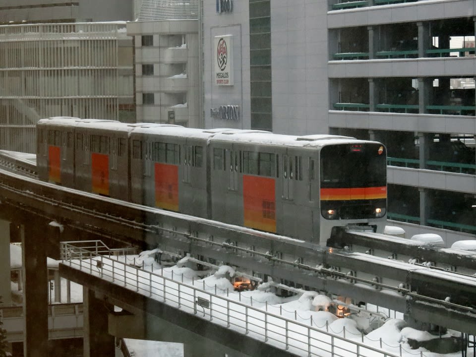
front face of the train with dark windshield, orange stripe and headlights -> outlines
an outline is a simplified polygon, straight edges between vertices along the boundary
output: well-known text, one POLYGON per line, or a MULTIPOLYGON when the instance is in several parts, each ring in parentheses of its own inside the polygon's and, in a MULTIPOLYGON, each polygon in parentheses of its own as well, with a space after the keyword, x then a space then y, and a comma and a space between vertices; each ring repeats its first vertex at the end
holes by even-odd
POLYGON ((329 238, 333 227, 351 225, 383 232, 387 220, 384 145, 354 142, 322 147, 319 182, 321 237, 329 238))

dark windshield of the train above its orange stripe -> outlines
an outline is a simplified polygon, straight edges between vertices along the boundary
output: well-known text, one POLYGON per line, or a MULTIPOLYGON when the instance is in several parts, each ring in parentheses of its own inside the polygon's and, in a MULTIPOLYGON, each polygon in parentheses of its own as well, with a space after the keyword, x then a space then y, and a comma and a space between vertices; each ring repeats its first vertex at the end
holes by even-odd
POLYGON ((338 144, 321 149, 321 188, 387 184, 385 147, 378 143, 338 144))

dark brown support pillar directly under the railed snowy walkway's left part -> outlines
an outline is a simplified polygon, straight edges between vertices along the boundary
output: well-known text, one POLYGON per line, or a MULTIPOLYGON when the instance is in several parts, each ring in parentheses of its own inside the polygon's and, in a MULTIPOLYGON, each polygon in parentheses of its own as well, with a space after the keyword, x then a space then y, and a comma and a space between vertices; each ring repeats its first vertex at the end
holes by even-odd
POLYGON ((114 336, 108 329, 108 315, 113 310, 113 305, 96 298, 94 291, 83 287, 84 357, 114 356, 114 336))

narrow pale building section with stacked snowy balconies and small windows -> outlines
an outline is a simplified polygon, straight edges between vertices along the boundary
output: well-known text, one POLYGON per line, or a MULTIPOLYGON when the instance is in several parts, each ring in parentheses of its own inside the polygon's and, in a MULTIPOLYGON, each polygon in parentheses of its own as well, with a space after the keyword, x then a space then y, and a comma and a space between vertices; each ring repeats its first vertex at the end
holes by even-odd
POLYGON ((135 44, 136 121, 199 127, 199 1, 143 0, 135 44))

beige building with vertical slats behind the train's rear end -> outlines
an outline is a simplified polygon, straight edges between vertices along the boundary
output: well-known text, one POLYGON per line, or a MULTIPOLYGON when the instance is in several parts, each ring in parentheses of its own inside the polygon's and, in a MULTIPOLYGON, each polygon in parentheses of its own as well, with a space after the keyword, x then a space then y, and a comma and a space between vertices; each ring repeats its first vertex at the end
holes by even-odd
POLYGON ((130 39, 120 27, 0 26, 0 149, 35 152, 41 118, 119 119, 119 106, 133 103, 132 58, 119 59, 119 42, 130 39))

